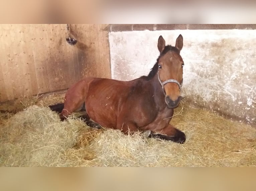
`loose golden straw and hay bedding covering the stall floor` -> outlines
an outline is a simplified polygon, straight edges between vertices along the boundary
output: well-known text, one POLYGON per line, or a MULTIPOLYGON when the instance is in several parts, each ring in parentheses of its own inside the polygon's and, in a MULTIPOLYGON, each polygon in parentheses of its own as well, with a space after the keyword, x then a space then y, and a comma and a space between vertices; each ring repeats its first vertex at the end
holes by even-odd
POLYGON ((62 100, 48 95, 0 105, 8 110, 0 115, 0 166, 256 166, 255 128, 187 103, 171 120, 186 134, 180 145, 93 130, 75 117, 61 122, 46 105, 62 100))

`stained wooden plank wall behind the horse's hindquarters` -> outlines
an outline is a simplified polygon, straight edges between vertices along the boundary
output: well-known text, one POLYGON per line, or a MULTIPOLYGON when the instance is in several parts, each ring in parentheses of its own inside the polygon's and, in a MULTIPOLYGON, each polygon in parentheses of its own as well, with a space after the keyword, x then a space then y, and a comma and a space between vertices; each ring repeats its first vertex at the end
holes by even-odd
POLYGON ((66 24, 0 25, 0 101, 64 90, 86 76, 111 78, 107 25, 69 26, 70 34, 66 24))

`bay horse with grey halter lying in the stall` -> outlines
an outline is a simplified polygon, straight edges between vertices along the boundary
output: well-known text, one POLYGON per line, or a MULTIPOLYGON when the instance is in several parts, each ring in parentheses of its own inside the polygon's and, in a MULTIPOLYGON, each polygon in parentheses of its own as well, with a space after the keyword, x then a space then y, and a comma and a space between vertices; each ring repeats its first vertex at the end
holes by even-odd
POLYGON ((61 111, 61 120, 74 111, 86 110, 86 120, 95 121, 89 122, 92 125, 119 129, 125 134, 146 131, 148 137, 182 144, 185 134, 169 124, 173 109, 181 100, 182 47, 182 35, 174 47, 165 46, 165 40, 159 36, 160 55, 148 76, 131 81, 87 77, 67 91, 64 103, 49 107, 61 111))

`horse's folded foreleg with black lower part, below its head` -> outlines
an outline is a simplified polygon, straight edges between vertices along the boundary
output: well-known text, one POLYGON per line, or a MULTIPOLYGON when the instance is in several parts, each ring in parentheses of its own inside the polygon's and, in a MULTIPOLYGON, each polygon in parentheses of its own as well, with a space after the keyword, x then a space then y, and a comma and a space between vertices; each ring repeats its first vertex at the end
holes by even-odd
POLYGON ((163 129, 159 130, 158 134, 155 134, 154 132, 151 131, 149 137, 173 141, 180 144, 183 144, 186 140, 185 133, 173 127, 172 125, 168 125, 167 127, 164 127, 163 129))

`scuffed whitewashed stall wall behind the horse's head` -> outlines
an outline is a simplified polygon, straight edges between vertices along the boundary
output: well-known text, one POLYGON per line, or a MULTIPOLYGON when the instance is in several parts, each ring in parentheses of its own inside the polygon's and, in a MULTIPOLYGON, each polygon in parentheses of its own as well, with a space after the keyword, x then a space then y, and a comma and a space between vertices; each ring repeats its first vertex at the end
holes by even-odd
POLYGON ((185 99, 256 124, 256 30, 109 32, 112 78, 147 75, 159 56, 159 35, 174 46, 179 34, 184 39, 185 99))

